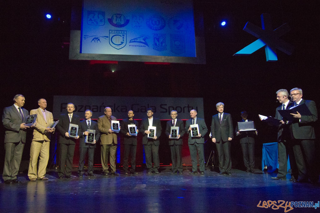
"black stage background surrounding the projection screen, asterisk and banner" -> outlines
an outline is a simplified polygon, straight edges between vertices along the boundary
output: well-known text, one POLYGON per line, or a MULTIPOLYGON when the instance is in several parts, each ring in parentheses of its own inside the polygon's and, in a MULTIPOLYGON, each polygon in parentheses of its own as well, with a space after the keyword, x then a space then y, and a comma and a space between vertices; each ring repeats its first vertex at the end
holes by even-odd
MULTIPOLYGON (((29 111, 38 107, 37 100, 41 97, 52 111, 53 95, 128 96, 134 91, 133 96, 203 97, 208 128, 212 115, 217 113, 218 102, 225 103, 225 112, 232 115, 234 125, 241 119, 242 110, 249 113, 249 119, 255 121, 259 130, 258 158, 262 143, 276 141, 276 129, 262 124, 258 114, 275 115, 278 89, 302 88, 303 98, 314 100, 319 110, 317 0, 196 1, 195 8, 204 14, 206 65, 121 61, 117 65, 90 65, 89 61, 69 60, 72 1, 1 1, 0 4, 1 109, 11 106, 16 94, 25 96, 25 108, 29 111), (44 18, 48 11, 52 12, 52 20, 44 18), (257 39, 243 28, 247 21, 261 27, 262 13, 271 14, 274 29, 289 24, 291 31, 281 39, 295 47, 291 56, 277 50, 278 61, 266 62, 264 48, 249 56, 233 56, 257 39), (220 27, 222 19, 228 20, 226 27, 220 27), (112 73, 111 69, 116 72, 112 73)), ((1 125, 0 167, 4 160, 3 141, 1 125)), ((29 158, 30 142, 29 138, 22 160, 29 158)), ((165 139, 161 142, 167 144, 165 139)), ((242 160, 238 141, 232 144, 233 158, 242 160)), ((165 146, 162 145, 163 149, 165 146)), ((207 143, 205 148, 211 150, 211 144, 207 143)), ((161 159, 170 161, 170 156, 161 159)), ((256 162, 257 168, 260 165, 261 162, 256 162)), ((233 167, 237 166, 241 167, 233 160, 233 167)))

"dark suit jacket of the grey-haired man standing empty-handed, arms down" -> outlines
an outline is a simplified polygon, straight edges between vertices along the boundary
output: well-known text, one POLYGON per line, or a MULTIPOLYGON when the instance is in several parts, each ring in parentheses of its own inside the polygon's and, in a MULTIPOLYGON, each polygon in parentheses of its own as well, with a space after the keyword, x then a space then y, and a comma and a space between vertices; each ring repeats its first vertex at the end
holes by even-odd
POLYGON ((233 125, 232 118, 229 113, 223 113, 222 122, 219 122, 219 113, 212 116, 211 122, 211 134, 212 138, 216 139, 216 142, 228 141, 228 138, 233 138, 233 125))

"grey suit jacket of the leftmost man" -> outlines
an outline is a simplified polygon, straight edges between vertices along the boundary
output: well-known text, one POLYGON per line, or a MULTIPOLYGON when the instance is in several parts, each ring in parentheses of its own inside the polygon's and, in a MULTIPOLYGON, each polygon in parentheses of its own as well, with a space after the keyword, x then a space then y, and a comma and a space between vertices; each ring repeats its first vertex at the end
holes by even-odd
POLYGON ((27 121, 29 112, 24 108, 21 109, 23 113, 23 121, 19 111, 17 110, 17 108, 15 108, 15 106, 12 105, 10 107, 6 107, 3 110, 2 124, 5 130, 5 143, 18 143, 20 141, 22 141, 22 143, 26 142, 27 131, 21 130, 20 124, 27 121))

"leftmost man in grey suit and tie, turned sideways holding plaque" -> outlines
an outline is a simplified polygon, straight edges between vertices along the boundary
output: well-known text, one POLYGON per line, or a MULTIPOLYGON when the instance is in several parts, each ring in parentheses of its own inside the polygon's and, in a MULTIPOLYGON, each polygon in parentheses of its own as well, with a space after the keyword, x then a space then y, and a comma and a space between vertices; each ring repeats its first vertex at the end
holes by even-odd
POLYGON ((17 179, 24 144, 26 143, 26 118, 28 110, 22 108, 26 101, 21 94, 14 96, 14 104, 3 110, 2 124, 4 126, 4 168, 2 178, 5 184, 20 183, 17 179))

